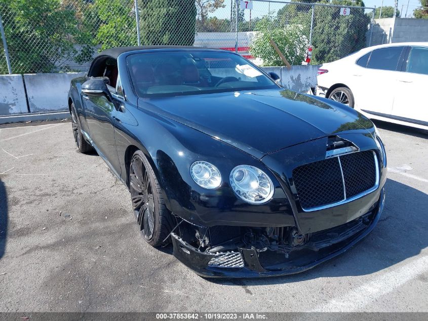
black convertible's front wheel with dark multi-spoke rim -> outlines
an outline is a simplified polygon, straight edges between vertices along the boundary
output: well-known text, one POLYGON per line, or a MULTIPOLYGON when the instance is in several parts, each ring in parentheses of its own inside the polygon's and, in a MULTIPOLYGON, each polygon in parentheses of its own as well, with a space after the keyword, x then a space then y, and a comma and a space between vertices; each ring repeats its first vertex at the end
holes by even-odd
POLYGON ((154 247, 168 244, 174 220, 165 206, 165 196, 158 179, 141 151, 136 151, 131 158, 129 185, 132 209, 141 235, 154 247))

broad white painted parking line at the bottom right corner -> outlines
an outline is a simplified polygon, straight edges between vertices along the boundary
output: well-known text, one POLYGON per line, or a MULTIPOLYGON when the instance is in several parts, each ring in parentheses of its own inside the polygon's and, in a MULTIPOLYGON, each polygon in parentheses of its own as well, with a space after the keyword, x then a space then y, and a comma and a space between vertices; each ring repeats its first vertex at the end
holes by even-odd
POLYGON ((400 288, 419 274, 428 272, 428 256, 421 256, 398 269, 387 271, 382 275, 373 275, 373 280, 354 290, 344 293, 320 306, 316 311, 353 312, 364 311, 365 307, 379 297, 400 288))

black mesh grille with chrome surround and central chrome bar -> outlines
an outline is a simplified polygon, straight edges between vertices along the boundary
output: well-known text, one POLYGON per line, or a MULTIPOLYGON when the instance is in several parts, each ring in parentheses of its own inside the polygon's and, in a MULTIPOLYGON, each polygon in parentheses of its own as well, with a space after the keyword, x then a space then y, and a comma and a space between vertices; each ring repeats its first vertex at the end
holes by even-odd
POLYGON ((377 158, 364 151, 304 164, 293 170, 293 180, 304 210, 334 206, 375 189, 377 158))

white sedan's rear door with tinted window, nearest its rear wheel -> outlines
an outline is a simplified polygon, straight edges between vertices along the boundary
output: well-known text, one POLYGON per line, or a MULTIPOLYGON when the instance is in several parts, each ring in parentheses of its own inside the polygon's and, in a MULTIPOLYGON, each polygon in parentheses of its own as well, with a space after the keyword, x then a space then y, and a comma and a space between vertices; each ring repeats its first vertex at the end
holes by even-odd
MULTIPOLYGON (((355 70, 355 99, 358 109, 371 114, 390 114, 394 101, 394 85, 404 46, 375 49, 367 58, 367 65, 355 70)), ((363 58, 361 57, 361 59, 363 58)), ((358 64, 358 61, 357 61, 358 64)), ((361 66, 360 64, 360 66, 361 66)))

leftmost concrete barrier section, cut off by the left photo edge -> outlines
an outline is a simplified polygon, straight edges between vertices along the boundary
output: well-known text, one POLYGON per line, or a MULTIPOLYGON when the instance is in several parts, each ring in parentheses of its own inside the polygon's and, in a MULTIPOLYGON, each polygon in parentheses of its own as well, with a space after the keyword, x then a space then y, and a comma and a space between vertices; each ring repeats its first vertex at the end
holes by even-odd
POLYGON ((0 115, 28 113, 21 75, 0 75, 0 115))

